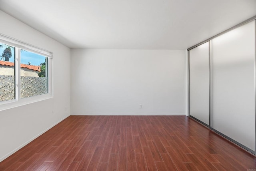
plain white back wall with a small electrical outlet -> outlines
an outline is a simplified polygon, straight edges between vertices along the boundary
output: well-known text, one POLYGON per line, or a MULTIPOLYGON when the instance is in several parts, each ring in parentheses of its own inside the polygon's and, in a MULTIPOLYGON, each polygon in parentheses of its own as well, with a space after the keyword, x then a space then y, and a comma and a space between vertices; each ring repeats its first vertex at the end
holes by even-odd
POLYGON ((72 49, 71 56, 72 115, 185 114, 184 50, 72 49))

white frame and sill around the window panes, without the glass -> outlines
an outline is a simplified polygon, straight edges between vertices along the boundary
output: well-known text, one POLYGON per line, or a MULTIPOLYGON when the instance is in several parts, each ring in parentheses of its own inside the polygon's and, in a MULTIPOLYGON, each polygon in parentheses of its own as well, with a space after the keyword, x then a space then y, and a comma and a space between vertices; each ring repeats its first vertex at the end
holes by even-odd
POLYGON ((0 34, 0 42, 3 44, 8 44, 10 46, 15 47, 14 49, 15 99, 0 101, 0 111, 53 98, 53 53, 47 50, 44 50, 42 48, 33 46, 31 44, 27 44, 20 40, 16 40, 14 38, 11 38, 3 34, 0 34), (48 66, 46 67, 46 70, 47 70, 46 72, 48 73, 48 93, 26 97, 26 98, 20 98, 20 92, 21 92, 20 51, 21 49, 45 56, 47 58, 48 66))

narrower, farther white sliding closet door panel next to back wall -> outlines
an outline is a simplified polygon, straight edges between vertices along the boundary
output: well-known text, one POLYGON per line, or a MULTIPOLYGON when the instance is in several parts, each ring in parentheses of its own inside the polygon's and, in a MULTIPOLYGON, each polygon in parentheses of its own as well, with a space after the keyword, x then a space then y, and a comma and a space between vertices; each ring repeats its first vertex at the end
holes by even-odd
POLYGON ((189 51, 191 116, 209 125, 209 42, 189 51))

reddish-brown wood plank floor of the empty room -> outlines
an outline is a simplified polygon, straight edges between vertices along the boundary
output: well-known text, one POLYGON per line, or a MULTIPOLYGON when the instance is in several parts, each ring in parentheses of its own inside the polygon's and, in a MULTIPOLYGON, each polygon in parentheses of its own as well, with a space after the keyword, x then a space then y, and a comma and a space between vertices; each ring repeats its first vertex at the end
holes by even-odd
POLYGON ((0 163, 0 171, 254 169, 256 157, 186 116, 70 116, 0 163))

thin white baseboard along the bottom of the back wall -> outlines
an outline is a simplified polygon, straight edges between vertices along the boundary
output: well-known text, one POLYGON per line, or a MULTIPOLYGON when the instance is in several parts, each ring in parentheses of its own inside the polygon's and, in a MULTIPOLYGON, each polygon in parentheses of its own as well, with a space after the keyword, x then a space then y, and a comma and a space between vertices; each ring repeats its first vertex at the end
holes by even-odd
POLYGON ((169 115, 169 116, 186 116, 185 113, 125 113, 125 114, 118 114, 118 113, 114 113, 114 114, 90 114, 90 113, 84 113, 84 114, 70 114, 70 115, 79 115, 79 116, 87 116, 87 115, 137 115, 137 116, 163 116, 163 115, 169 115))

